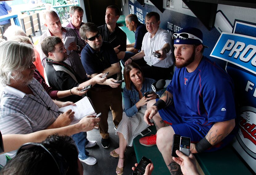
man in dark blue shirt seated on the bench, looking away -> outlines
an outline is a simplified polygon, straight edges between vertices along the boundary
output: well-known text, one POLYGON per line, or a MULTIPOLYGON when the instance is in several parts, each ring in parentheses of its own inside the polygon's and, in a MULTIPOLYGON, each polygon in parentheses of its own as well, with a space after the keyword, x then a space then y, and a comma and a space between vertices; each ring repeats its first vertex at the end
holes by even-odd
MULTIPOLYGON (((135 42, 126 45, 125 57, 121 60, 123 65, 128 58, 141 51, 143 37, 147 33, 146 26, 138 21, 138 17, 135 14, 127 15, 125 17, 125 23, 130 31, 135 32, 135 42)), ((134 62, 140 66, 147 64, 143 59, 135 60, 134 62)))

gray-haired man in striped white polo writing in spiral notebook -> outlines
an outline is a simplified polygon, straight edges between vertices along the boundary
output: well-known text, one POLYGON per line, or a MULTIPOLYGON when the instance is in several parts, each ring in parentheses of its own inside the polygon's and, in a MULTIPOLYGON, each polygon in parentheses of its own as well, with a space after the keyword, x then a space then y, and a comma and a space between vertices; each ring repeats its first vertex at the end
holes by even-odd
MULTIPOLYGON (((0 130, 2 134, 27 134, 60 128, 71 123, 74 112, 58 112, 43 86, 33 78, 33 46, 6 41, 0 43, 0 130)), ((60 102, 62 106, 73 102, 60 102)), ((7 153, 14 157, 16 151, 7 153)))

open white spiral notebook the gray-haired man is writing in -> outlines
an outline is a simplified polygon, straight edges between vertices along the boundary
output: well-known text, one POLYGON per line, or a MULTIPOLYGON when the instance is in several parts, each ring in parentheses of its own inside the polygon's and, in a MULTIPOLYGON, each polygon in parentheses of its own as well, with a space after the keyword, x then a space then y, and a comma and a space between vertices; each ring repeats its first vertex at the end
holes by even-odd
POLYGON ((75 103, 76 105, 68 105, 63 108, 60 108, 59 111, 66 112, 68 109, 71 109, 75 112, 75 117, 70 125, 78 123, 83 117, 88 115, 96 115, 93 104, 88 97, 84 97, 81 100, 75 103))

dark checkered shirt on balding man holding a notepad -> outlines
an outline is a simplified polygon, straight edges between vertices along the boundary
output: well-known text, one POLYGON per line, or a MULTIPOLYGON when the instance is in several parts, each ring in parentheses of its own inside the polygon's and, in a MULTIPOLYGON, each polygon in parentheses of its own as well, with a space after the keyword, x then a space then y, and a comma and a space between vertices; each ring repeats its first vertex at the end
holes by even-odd
MULTIPOLYGON (((46 38, 47 36, 54 36, 50 30, 47 30, 40 38, 39 43, 38 43, 38 51, 40 53, 40 58, 42 61, 42 65, 43 67, 45 67, 46 64, 46 56, 43 53, 42 49, 41 49, 41 42, 43 41, 44 38, 46 38)), ((84 48, 85 45, 84 43, 81 41, 81 39, 79 38, 79 36, 76 34, 76 32, 70 28, 70 27, 62 27, 62 38, 63 40, 65 40, 66 37, 76 37, 75 38, 75 42, 78 46, 80 46, 80 48, 84 48)), ((81 79, 85 79, 86 78, 86 72, 85 69, 82 65, 80 56, 79 56, 79 52, 76 50, 71 50, 68 58, 65 60, 66 63, 68 63, 73 70, 75 70, 76 74, 78 74, 80 76, 81 79)))

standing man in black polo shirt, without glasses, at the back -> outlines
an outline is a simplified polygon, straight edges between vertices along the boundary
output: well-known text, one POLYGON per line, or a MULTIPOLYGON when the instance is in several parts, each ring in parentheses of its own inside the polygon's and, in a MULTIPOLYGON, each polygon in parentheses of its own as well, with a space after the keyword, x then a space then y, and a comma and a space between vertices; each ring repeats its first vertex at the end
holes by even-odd
POLYGON ((112 45, 118 59, 123 59, 126 51, 126 34, 117 25, 119 16, 120 11, 117 6, 108 6, 105 15, 106 24, 98 28, 103 41, 112 45))

